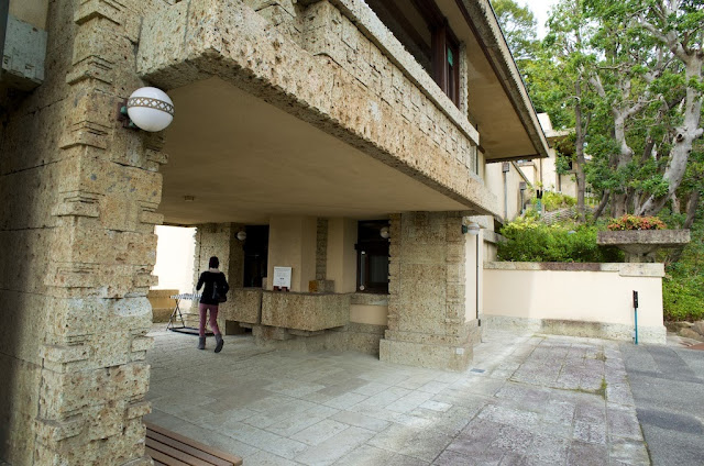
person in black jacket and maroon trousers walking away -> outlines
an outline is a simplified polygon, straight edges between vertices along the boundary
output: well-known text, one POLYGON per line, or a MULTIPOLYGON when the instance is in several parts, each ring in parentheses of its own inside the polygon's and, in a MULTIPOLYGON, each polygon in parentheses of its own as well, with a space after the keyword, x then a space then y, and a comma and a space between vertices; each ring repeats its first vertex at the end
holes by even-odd
POLYGON ((210 257, 208 267, 208 270, 200 274, 198 285, 196 285, 197 291, 205 286, 202 295, 200 296, 200 303, 198 304, 198 312, 200 313, 200 325, 198 326, 198 350, 206 348, 206 313, 209 312, 210 320, 208 322, 210 323, 212 333, 216 334, 216 353, 220 353, 224 342, 222 341, 222 334, 220 334, 220 329, 218 328, 218 304, 220 304, 220 301, 218 300, 217 295, 224 296, 230 289, 230 286, 228 285, 228 280, 224 278, 224 274, 218 269, 218 267, 220 267, 220 259, 218 259, 218 257, 210 257))

